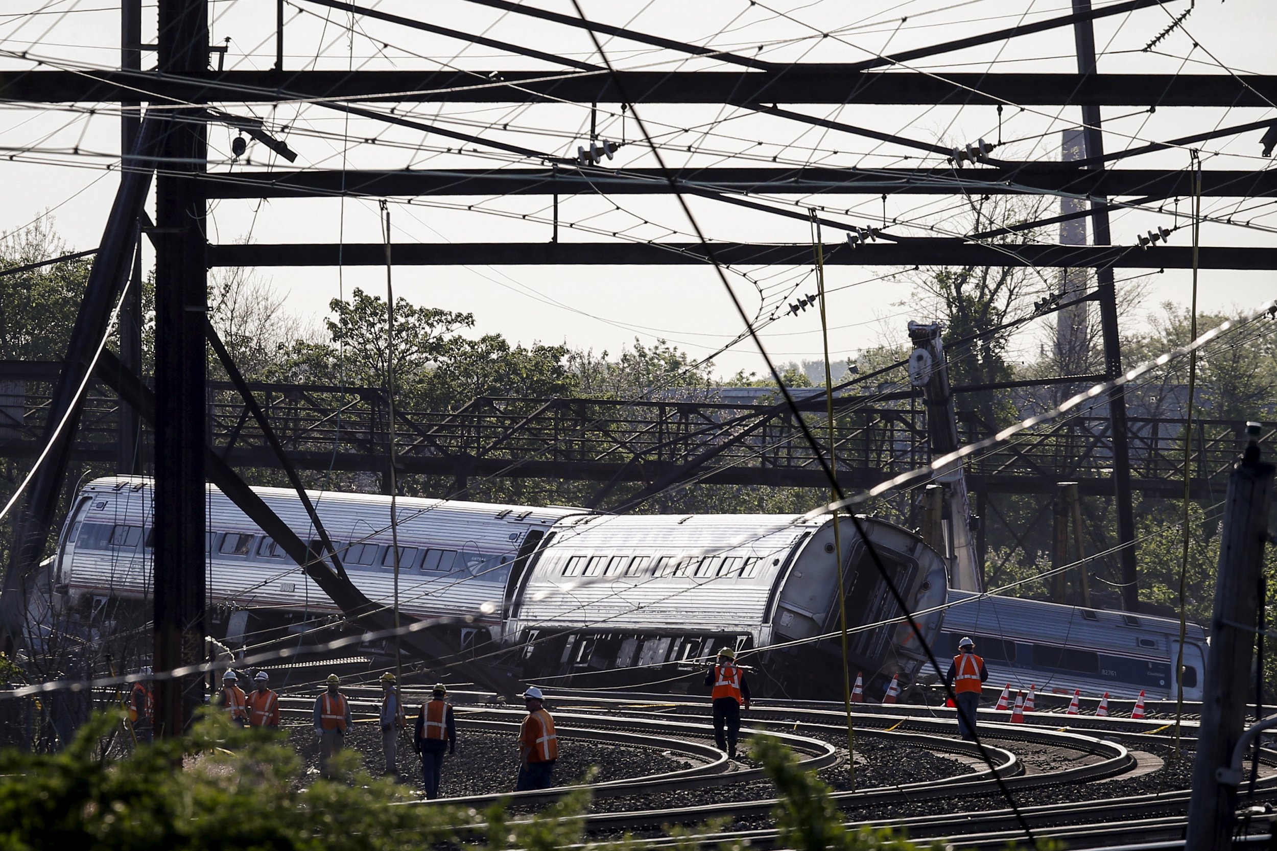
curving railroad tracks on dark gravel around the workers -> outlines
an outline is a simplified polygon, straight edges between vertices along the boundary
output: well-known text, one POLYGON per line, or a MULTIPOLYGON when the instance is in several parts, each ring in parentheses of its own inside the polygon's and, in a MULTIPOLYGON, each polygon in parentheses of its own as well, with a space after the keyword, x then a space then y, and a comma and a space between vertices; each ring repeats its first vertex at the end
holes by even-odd
MULTIPOLYGON (((346 689, 358 717, 372 718, 377 709, 379 689, 352 686, 346 689)), ((405 686, 405 703, 414 705, 424 691, 405 686)), ((453 691, 458 724, 492 733, 513 731, 522 710, 484 704, 485 695, 453 691)), ((313 696, 285 696, 286 716, 309 712, 313 696)), ((572 693, 555 690, 553 705, 559 735, 566 745, 576 741, 619 747, 656 747, 687 762, 681 770, 658 772, 622 781, 595 783, 590 787, 599 801, 586 814, 587 829, 595 836, 616 836, 626 831, 660 833, 664 825, 702 824, 715 816, 733 819, 729 832, 696 837, 701 845, 748 839, 757 847, 771 847, 776 834, 771 811, 776 801, 746 787, 762 779, 762 772, 742 760, 729 760, 713 746, 709 724, 709 702, 669 695, 633 695, 609 693, 572 693), (742 795, 729 801, 691 802, 709 790, 720 793, 741 788, 742 795), (683 801, 670 805, 632 806, 653 799, 683 801), (607 805, 604 806, 604 802, 607 805)), ((1023 818, 1037 836, 1059 838, 1070 847, 1111 846, 1121 842, 1165 842, 1171 847, 1183 836, 1188 792, 1183 788, 1143 795, 1106 796, 1102 781, 1122 781, 1142 772, 1163 770, 1162 758, 1145 753, 1171 746, 1171 727, 1165 721, 1133 721, 1130 718, 1062 717, 1054 712, 1031 713, 1024 724, 1000 723, 1006 713, 986 712, 981 716, 983 753, 994 768, 974 765, 982 762, 981 749, 956 739, 954 710, 916 705, 862 704, 854 710, 858 741, 875 741, 902 749, 921 749, 931 754, 959 758, 971 765, 967 773, 941 781, 900 782, 873 788, 834 792, 834 801, 847 813, 852 827, 893 827, 909 837, 925 841, 955 842, 962 847, 1006 847, 1023 839, 1023 818), (986 721, 999 718, 1000 722, 986 721), (1065 723, 1061 723, 1065 722, 1065 723), (1028 754, 1033 758, 1028 758, 1028 754), (1156 763, 1152 768, 1149 760, 1156 763), (999 806, 997 782, 994 772, 1018 801, 1016 816, 1002 802, 999 806), (1089 800, 1042 801, 1037 799, 1064 795, 1064 790, 1093 790, 1089 800), (964 806, 963 802, 976 806, 964 806), (937 811, 940 808, 950 811, 937 811), (951 810, 960 810, 953 813, 951 810), (930 811, 926 811, 930 810, 930 811)), ((801 760, 815 770, 845 768, 847 735, 843 708, 838 704, 812 702, 755 703, 746 713, 747 728, 776 735, 793 747, 801 760)), ((1184 724, 1185 746, 1191 747, 1197 724, 1184 724)), ((1262 751, 1264 772, 1255 787, 1255 801, 1277 802, 1277 751, 1262 751)), ((540 806, 561 797, 566 788, 544 792, 474 795, 442 799, 442 802, 481 808, 498 799, 511 801, 516 809, 540 806)), ((425 802, 423 802, 425 804, 425 802)), ((1269 831, 1268 815, 1251 825, 1255 836, 1269 831)), ((664 842, 656 836, 654 847, 664 842)))

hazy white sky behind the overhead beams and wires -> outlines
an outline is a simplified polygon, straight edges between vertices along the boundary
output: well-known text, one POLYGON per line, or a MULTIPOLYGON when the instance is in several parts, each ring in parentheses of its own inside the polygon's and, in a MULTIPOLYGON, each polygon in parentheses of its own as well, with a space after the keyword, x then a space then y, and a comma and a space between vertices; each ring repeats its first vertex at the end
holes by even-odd
MULTIPOLYGON (((539 50, 596 61, 589 36, 578 29, 524 15, 506 14, 466 0, 364 0, 366 5, 466 32, 529 45, 539 50)), ((535 5, 575 14, 571 3, 536 0, 535 5)), ((816 3, 750 3, 714 0, 686 3, 601 3, 586 0, 586 14, 596 20, 628 26, 681 41, 760 55, 770 61, 856 61, 881 52, 925 46, 991 29, 1057 17, 1069 12, 1068 0, 817 0, 816 3), (821 33, 829 33, 821 37, 821 33), (756 52, 759 47, 761 52, 756 52)), ((1108 5, 1097 3, 1097 6, 1108 5)), ((227 43, 227 68, 268 69, 275 61, 275 4, 269 0, 213 0, 209 3, 215 43, 227 43), (225 40, 230 40, 226 42, 225 40)), ((1277 74, 1277 8, 1271 0, 1203 0, 1185 27, 1171 32, 1153 50, 1143 47, 1188 0, 1172 0, 1115 15, 1096 23, 1102 73, 1258 73, 1277 74)), ((155 5, 144 6, 143 40, 155 34, 155 5)), ((451 38, 347 13, 332 12, 306 0, 286 3, 286 68, 321 69, 439 69, 550 70, 536 60, 501 55, 451 38), (354 26, 351 26, 354 24, 354 26)), ((621 68, 650 70, 723 70, 713 60, 653 49, 605 37, 604 49, 621 68)), ((1070 28, 969 49, 909 64, 916 70, 962 72, 1071 72, 1070 28)), ((0 72, 36 68, 106 68, 119 61, 119 9, 112 0, 5 0, 0 4, 0 72), (38 60, 38 61, 37 61, 38 60)), ((144 57, 149 66, 152 59, 144 57)), ((226 105, 238 114, 267 119, 299 153, 296 164, 276 164, 269 151, 253 144, 248 162, 231 162, 234 132, 212 126, 211 169, 215 171, 273 169, 402 169, 465 167, 504 169, 539 166, 535 160, 499 152, 478 153, 447 148, 455 142, 416 130, 388 128, 378 121, 351 119, 318 105, 226 105), (283 128, 287 125, 287 129, 283 128), (374 139, 369 143, 368 139, 374 139)), ((373 109, 387 109, 384 105, 373 109)), ((894 144, 884 144, 839 132, 782 119, 759 116, 725 106, 641 106, 669 165, 746 166, 821 165, 826 167, 886 167, 939 165, 940 157, 894 144)), ((899 133, 914 139, 963 144, 977 138, 996 139, 999 121, 992 106, 965 109, 907 107, 796 107, 812 115, 899 133)), ((536 151, 575 153, 589 135, 589 105, 410 105, 409 112, 487 139, 501 139, 536 151)), ((1105 111, 1108 151, 1145 142, 1186 135, 1216 126, 1273 116, 1272 109, 1172 109, 1156 112, 1138 109, 1105 111)), ((1009 142, 999 156, 1006 160, 1059 158, 1060 132, 1080 120, 1080 110, 1010 106, 1001 134, 1009 142)), ((600 135, 624 141, 613 165, 653 166, 645 146, 636 143, 637 129, 628 118, 622 125, 614 103, 599 105, 600 135)), ((1258 132, 1226 137, 1203 146, 1205 169, 1258 171, 1271 166, 1259 156, 1258 132)), ((469 147, 469 146, 467 146, 469 147)), ((10 233, 32 220, 51 215, 56 230, 72 249, 97 244, 117 185, 112 170, 119 157, 119 120, 110 105, 31 109, 5 105, 0 111, 0 178, 5 203, 0 233, 10 233)), ((1116 167, 1185 169, 1189 153, 1168 150, 1134 157, 1116 167)), ((848 224, 879 224, 884 203, 875 195, 824 195, 819 201, 774 195, 784 204, 821 203, 848 224)), ((1047 215, 1057 210, 1046 199, 1047 215)), ((886 217, 898 220, 891 233, 951 235, 969 231, 960 216, 960 199, 902 195, 889 198, 886 217)), ((1117 211, 1114 239, 1134 244, 1137 234, 1158 225, 1172 226, 1174 204, 1163 212, 1117 211)), ((697 221, 713 239, 730 241, 807 241, 802 221, 743 211, 702 198, 691 199, 697 221)), ((799 207, 790 207, 799 208, 799 207)), ((1188 202, 1180 199, 1180 211, 1188 202)), ((396 241, 536 241, 549 239, 548 198, 425 198, 392 203, 396 241), (474 210, 466 210, 474 204, 474 210), (522 216, 527 215, 525 220, 522 216)), ((1274 245, 1274 207, 1266 199, 1205 199, 1204 213, 1217 222, 1202 229, 1205 245, 1274 245), (1234 224, 1225 220, 1232 218, 1234 224)), ((613 231, 633 239, 687 240, 691 227, 668 198, 618 195, 563 198, 561 220, 578 229, 561 231, 563 240, 610 239, 613 231)), ((252 239, 285 241, 379 241, 377 199, 308 199, 244 202, 221 201, 209 211, 211 241, 252 239)), ((826 230, 827 240, 839 240, 826 230)), ((1056 234, 1046 235, 1055 241, 1056 234)), ((1188 244, 1184 229, 1172 244, 1188 244)), ((1151 263, 1156 263, 1149 252, 1151 263)), ((751 316, 767 318, 797 291, 815 291, 811 270, 753 268, 733 275, 736 291, 751 316)), ((886 268, 836 266, 827 272, 834 356, 853 355, 885 336, 899 336, 908 319, 928 319, 931 305, 911 298, 909 276, 877 280, 886 268)), ((1152 270, 1149 270, 1152 271, 1152 270)), ((268 268, 263 276, 281 294, 286 309, 318 318, 328 299, 355 286, 384 291, 384 271, 372 267, 268 268)), ((1121 270, 1119 279, 1140 271, 1121 270)), ((522 341, 567 342, 575 348, 617 351, 636 336, 645 342, 660 337, 704 356, 728 344, 741 331, 714 271, 709 267, 397 267, 396 291, 412 302, 472 312, 476 331, 502 332, 522 341)), ((1057 272, 1043 270, 1037 293, 1055 286, 1057 272)), ((1142 279, 1149 285, 1145 307, 1162 300, 1184 302, 1189 294, 1186 272, 1166 272, 1142 279)), ((1203 309, 1251 305, 1277 294, 1269 273, 1202 273, 1203 309)), ((1129 317, 1138 322, 1139 317, 1129 317)), ((1027 351, 1037 348, 1041 330, 1029 328, 1018 340, 1027 351)), ((808 310, 782 316, 766 325, 765 345, 778 360, 820 356, 819 317, 808 310)), ((718 372, 760 369, 752 344, 737 344, 716 359, 718 372)))

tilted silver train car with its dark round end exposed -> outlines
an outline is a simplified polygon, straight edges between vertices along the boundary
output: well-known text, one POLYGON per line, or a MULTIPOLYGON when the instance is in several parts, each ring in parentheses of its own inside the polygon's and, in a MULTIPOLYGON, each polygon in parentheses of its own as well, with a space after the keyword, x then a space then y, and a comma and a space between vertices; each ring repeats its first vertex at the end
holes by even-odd
MULTIPOLYGON (((908 685, 925 661, 888 583, 911 611, 945 598, 939 555, 894 524, 862 518, 870 556, 840 520, 848 668, 867 693, 908 685)), ((734 647, 752 687, 790 698, 843 694, 834 525, 802 515, 581 515, 555 524, 507 620, 529 676, 572 685, 699 687, 716 648, 734 647)), ((935 640, 940 618, 921 618, 935 640)))

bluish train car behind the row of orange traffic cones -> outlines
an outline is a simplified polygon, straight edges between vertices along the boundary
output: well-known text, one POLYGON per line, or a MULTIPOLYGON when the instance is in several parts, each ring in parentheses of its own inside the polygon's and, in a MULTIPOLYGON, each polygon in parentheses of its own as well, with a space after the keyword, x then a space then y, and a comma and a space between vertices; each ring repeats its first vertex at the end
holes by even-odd
MULTIPOLYGON (((958 653, 969 635, 988 670, 986 687, 1010 685, 1028 691, 1097 698, 1149 699, 1176 695, 1172 673, 1180 652, 1180 622, 1166 617, 1059 606, 1015 597, 986 597, 950 590, 941 662, 958 653)), ((1184 632, 1184 699, 1200 700, 1205 681, 1205 630, 1188 624, 1184 632)), ((928 666, 928 676, 935 676, 928 666)))

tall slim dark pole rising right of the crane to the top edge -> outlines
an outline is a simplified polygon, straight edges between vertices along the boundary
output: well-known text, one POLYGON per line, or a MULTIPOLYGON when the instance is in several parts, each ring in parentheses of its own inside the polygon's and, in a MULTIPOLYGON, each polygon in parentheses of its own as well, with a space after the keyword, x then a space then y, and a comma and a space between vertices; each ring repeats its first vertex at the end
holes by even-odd
MULTIPOLYGON (((1091 0, 1073 0, 1074 14, 1089 14, 1091 0)), ((1096 74, 1096 29, 1091 18, 1079 19, 1073 24, 1073 36, 1078 50, 1078 73, 1096 74)), ((1085 141, 1087 157, 1101 157, 1105 153, 1103 133, 1101 132, 1099 107, 1083 105, 1082 135, 1085 141)), ((1096 166, 1103 171, 1103 164, 1096 166)), ((1096 207, 1096 245, 1112 245, 1108 230, 1108 204, 1105 198, 1094 198, 1096 207)), ((1114 282, 1112 266, 1101 266, 1096 271, 1099 296, 1099 331, 1105 341, 1105 373, 1110 378, 1121 374, 1121 340, 1117 335, 1117 286, 1114 282)), ((1139 611, 1139 576, 1135 570, 1135 511, 1131 507, 1130 488, 1130 447, 1126 443, 1126 390, 1114 387, 1108 391, 1108 437, 1114 447, 1114 497, 1117 509, 1117 560, 1121 565, 1121 607, 1128 612, 1139 611)))

